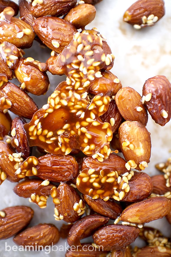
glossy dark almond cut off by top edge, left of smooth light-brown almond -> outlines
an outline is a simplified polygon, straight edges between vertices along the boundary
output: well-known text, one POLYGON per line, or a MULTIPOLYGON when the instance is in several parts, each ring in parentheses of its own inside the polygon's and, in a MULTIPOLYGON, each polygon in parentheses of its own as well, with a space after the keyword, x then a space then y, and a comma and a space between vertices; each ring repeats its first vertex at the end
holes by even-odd
POLYGON ((62 16, 69 12, 71 8, 73 8, 76 4, 76 0, 43 0, 40 4, 36 0, 32 1, 30 4, 30 12, 35 17, 42 17, 42 16, 62 16))

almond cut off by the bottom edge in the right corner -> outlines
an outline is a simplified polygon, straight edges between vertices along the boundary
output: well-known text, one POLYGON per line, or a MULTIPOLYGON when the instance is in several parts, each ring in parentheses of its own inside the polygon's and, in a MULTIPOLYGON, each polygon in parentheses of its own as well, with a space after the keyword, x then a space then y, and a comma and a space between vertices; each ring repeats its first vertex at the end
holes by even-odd
POLYGON ((171 249, 164 246, 145 246, 138 249, 136 253, 133 253, 133 257, 144 257, 144 256, 155 256, 155 257, 170 257, 171 249))

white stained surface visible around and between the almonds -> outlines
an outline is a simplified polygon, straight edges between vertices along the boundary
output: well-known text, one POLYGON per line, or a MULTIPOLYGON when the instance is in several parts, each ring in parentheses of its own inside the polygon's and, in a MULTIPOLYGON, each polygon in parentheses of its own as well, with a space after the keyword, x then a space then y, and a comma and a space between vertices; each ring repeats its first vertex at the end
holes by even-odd
MULTIPOLYGON (((16 0, 17 2, 17 0, 16 0)), ((134 30, 133 27, 122 21, 126 9, 134 3, 134 0, 103 0, 96 4, 96 18, 86 28, 97 27, 101 34, 107 38, 108 45, 112 53, 116 56, 112 72, 121 80, 123 87, 130 86, 142 94, 144 82, 155 75, 165 75, 171 81, 171 0, 165 0, 166 14, 153 27, 144 28, 143 30, 134 30)), ((26 51, 26 57, 31 56, 40 61, 46 61, 50 56, 50 51, 39 48, 34 43, 31 49, 26 51)), ((42 102, 46 103, 47 97, 53 92, 57 84, 65 80, 65 77, 52 76, 49 74, 51 87, 45 96, 34 97, 39 101, 39 107, 42 102), (41 98, 41 100, 40 100, 41 98)), ((152 154, 149 167, 145 169, 149 175, 158 174, 154 165, 156 162, 167 160, 171 156, 171 121, 164 127, 157 125, 149 116, 147 129, 151 133, 152 154)), ((34 218, 32 225, 38 223, 53 223, 60 227, 63 222, 56 222, 53 217, 54 205, 50 199, 47 201, 47 208, 40 209, 35 204, 30 204, 28 199, 20 198, 13 192, 15 183, 5 181, 0 187, 0 209, 7 206, 27 205, 34 209, 34 218)), ((151 224, 164 232, 166 236, 170 235, 171 226, 166 219, 160 219, 151 224)), ((0 257, 45 257, 45 256, 65 256, 61 245, 65 248, 65 241, 60 240, 57 244, 59 251, 48 249, 44 252, 19 252, 6 251, 7 245, 13 246, 12 239, 0 241, 0 257)), ((141 242, 136 242, 139 244, 141 242)), ((8 248, 9 249, 9 248, 8 248)), ((55 249, 54 249, 55 250, 55 249)))

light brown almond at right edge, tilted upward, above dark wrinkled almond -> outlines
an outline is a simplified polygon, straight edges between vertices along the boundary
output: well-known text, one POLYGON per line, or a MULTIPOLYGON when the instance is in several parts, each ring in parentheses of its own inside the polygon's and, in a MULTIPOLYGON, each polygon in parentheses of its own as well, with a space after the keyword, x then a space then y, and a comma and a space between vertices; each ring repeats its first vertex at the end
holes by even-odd
POLYGON ((120 219, 137 224, 148 223, 166 216, 170 208, 171 201, 166 197, 152 197, 126 207, 121 213, 120 219))

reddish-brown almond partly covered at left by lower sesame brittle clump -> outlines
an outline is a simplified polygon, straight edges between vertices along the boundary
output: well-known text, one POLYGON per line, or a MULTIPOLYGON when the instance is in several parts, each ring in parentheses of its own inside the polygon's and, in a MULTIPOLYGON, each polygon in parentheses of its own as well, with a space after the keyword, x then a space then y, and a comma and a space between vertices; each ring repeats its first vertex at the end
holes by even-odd
POLYGON ((134 171, 129 181, 130 190, 122 201, 137 202, 149 197, 153 191, 153 183, 150 176, 144 172, 134 171))

